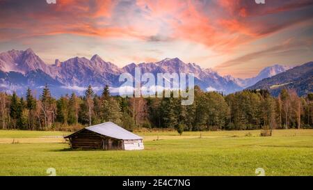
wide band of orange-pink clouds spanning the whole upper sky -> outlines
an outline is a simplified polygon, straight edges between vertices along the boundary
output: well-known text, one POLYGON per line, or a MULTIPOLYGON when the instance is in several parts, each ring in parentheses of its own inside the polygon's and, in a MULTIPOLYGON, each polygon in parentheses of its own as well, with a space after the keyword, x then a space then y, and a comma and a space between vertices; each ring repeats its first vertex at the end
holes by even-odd
POLYGON ((298 15, 287 12, 313 5, 309 0, 267 1, 266 6, 243 0, 60 0, 56 5, 32 1, 19 8, 10 3, 13 1, 17 0, 1 1, 0 29, 9 29, 1 33, 1 39, 71 33, 154 42, 190 40, 224 51, 313 15, 305 11, 298 15), (122 11, 117 9, 121 7, 122 11), (284 12, 285 17, 275 17, 275 13, 284 12))

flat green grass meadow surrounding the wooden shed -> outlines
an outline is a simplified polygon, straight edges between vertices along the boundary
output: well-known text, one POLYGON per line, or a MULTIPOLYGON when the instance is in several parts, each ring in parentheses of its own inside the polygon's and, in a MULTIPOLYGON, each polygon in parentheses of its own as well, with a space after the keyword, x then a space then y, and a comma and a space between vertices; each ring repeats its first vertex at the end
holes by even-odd
POLYGON ((313 175, 312 129, 143 132, 137 151, 69 150, 65 134, 0 130, 0 175, 313 175))

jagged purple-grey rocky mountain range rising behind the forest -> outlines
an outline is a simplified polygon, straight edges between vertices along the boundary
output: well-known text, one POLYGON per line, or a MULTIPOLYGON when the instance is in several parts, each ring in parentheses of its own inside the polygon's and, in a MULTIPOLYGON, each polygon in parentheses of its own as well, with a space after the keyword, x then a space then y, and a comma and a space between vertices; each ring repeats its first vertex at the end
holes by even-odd
POLYGON ((15 90, 19 95, 24 95, 28 87, 40 93, 41 88, 48 84, 51 93, 58 97, 72 91, 81 94, 88 85, 92 85, 95 91, 100 91, 107 84, 114 93, 114 89, 121 85, 118 81, 120 74, 128 72, 134 76, 135 68, 141 68, 142 73, 150 72, 154 76, 166 72, 194 73, 195 85, 225 94, 243 90, 262 79, 290 69, 283 65, 273 65, 264 68, 256 77, 240 79, 230 75, 220 76, 212 69, 200 68, 195 63, 184 63, 179 58, 165 58, 156 63, 130 63, 124 68, 118 68, 94 55, 90 59, 74 57, 63 62, 56 59, 54 65, 48 65, 32 49, 13 49, 0 54, 0 90, 15 90))

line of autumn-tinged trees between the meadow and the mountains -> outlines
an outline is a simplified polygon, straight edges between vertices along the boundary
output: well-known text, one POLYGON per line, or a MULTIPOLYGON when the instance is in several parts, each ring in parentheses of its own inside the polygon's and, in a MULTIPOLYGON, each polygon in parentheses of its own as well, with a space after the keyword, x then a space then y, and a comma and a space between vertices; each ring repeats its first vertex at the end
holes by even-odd
POLYGON ((88 86, 84 95, 55 99, 46 85, 38 99, 30 88, 25 97, 0 93, 0 128, 74 131, 107 121, 129 130, 157 127, 178 132, 313 127, 313 93, 298 97, 295 90, 283 89, 278 97, 268 90, 223 95, 195 86, 193 104, 183 106, 181 100, 113 96, 109 86, 102 95, 88 86))

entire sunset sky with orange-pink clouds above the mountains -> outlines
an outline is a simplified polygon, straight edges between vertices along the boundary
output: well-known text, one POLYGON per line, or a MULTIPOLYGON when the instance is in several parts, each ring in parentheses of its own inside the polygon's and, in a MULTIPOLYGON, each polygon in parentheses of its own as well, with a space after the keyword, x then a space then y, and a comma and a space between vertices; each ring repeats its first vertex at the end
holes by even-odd
POLYGON ((180 58, 247 78, 313 61, 312 0, 0 0, 0 52, 119 67, 180 58))

